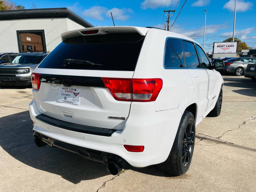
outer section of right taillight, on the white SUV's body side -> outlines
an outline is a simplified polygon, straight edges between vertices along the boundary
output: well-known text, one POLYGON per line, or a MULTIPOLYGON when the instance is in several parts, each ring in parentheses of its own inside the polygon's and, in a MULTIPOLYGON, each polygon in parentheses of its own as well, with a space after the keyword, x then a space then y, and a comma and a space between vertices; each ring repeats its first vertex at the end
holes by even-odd
POLYGON ((155 101, 162 86, 162 79, 132 79, 132 101, 155 101))

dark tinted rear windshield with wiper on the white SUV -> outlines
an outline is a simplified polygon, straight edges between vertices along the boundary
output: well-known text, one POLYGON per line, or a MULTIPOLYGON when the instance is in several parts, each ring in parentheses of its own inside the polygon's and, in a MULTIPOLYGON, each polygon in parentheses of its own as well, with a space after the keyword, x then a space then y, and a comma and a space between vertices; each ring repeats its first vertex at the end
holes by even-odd
POLYGON ((143 40, 138 33, 70 38, 60 43, 38 68, 134 71, 143 40))

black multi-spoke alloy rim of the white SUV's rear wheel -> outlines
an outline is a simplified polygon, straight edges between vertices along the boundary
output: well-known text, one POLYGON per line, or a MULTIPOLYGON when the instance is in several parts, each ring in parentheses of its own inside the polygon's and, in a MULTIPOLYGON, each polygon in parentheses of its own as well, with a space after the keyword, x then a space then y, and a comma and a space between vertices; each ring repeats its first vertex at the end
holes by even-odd
POLYGON ((190 158, 192 156, 192 151, 194 148, 194 140, 195 140, 195 128, 192 121, 188 122, 188 125, 186 127, 186 130, 184 132, 183 136, 183 144, 182 144, 182 156, 181 161, 183 167, 186 167, 190 161, 190 158))

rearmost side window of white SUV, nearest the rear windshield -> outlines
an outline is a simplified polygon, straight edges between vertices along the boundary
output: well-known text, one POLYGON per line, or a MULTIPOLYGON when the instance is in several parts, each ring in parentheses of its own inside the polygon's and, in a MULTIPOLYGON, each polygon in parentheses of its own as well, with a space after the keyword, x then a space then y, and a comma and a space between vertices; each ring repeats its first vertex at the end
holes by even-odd
POLYGON ((184 67, 184 54, 180 39, 168 39, 165 47, 164 67, 184 67))

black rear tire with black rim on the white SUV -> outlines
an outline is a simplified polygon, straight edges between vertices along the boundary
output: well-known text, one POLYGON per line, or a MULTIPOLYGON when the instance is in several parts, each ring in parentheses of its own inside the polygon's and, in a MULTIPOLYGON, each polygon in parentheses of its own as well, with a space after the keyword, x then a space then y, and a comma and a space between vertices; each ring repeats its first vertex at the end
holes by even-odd
POLYGON ((185 111, 181 117, 171 152, 163 163, 158 164, 158 168, 176 176, 185 174, 193 156, 195 134, 194 116, 191 112, 185 111))

